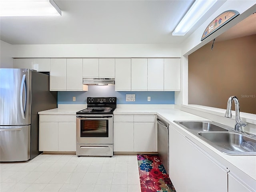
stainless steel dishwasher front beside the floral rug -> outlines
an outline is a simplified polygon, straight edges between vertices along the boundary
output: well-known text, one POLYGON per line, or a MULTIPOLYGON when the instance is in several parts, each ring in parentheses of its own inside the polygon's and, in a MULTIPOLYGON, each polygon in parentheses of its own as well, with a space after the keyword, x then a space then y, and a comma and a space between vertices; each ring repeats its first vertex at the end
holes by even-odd
POLYGON ((157 117, 157 152, 169 174, 169 124, 157 117))

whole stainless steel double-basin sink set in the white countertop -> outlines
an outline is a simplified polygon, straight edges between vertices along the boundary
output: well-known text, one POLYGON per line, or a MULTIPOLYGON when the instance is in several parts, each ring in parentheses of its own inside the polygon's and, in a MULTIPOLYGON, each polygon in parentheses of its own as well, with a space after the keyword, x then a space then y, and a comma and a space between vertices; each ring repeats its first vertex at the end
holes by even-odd
POLYGON ((256 156, 256 135, 236 132, 213 121, 174 121, 220 152, 256 156))

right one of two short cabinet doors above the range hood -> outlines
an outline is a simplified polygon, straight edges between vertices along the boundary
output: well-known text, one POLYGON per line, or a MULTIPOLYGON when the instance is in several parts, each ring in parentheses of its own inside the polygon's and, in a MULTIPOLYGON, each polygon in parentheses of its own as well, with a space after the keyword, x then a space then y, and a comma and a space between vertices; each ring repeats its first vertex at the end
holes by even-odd
POLYGON ((99 59, 99 77, 115 78, 115 59, 99 59))

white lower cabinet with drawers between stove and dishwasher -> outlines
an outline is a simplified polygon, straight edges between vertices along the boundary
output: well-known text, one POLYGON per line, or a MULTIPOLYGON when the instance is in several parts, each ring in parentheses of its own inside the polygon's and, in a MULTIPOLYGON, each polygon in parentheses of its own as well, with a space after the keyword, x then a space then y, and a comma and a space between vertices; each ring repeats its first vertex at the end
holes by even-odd
POLYGON ((156 152, 154 115, 114 115, 114 152, 156 152))

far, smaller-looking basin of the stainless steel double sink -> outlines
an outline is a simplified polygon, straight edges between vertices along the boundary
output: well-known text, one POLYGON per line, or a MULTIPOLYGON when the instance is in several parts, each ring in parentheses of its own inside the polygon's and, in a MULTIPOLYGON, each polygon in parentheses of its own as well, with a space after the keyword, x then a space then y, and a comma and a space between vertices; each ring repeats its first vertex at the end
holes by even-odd
POLYGON ((221 126, 218 126, 216 124, 213 124, 210 121, 200 121, 200 122, 182 121, 179 123, 182 126, 194 131, 228 131, 227 129, 222 128, 221 126))

